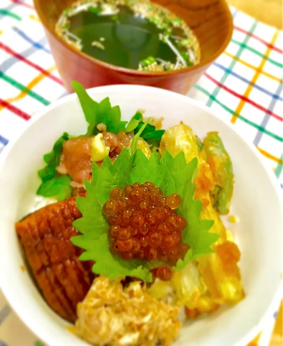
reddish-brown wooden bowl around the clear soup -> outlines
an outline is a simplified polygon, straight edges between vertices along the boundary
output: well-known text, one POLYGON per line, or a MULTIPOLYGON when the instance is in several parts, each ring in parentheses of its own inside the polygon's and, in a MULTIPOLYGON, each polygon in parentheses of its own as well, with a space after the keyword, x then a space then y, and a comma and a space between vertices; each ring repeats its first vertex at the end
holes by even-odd
POLYGON ((233 31, 233 21, 225 0, 155 0, 185 20, 200 42, 200 63, 169 72, 125 69, 97 60, 76 50, 55 33, 63 10, 75 0, 34 0, 43 23, 57 69, 66 89, 73 92, 72 80, 85 88, 109 84, 157 86, 181 94, 196 83, 208 66, 224 51, 233 31))

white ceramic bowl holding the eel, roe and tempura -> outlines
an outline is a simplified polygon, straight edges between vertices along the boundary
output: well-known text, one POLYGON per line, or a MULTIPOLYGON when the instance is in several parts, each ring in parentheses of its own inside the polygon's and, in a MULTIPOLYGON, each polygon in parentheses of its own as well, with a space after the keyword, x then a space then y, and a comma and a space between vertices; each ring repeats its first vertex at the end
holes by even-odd
MULTIPOLYGON (((247 296, 235 307, 185 324, 176 344, 245 346, 271 317, 282 280, 283 208, 273 172, 265 169, 256 149, 230 125, 186 96, 136 85, 103 86, 89 90, 89 94, 96 101, 109 96, 112 105, 121 107, 123 120, 144 108, 145 116, 164 117, 164 128, 182 120, 200 138, 208 131, 219 131, 234 165, 232 211, 240 222, 233 230, 242 252, 240 267, 247 296)), ((87 344, 69 334, 67 323, 47 306, 28 271, 21 271, 24 262, 14 227, 15 221, 34 206, 43 154, 63 131, 74 135, 86 131, 76 95, 44 108, 0 156, 0 280, 12 308, 44 342, 83 346, 87 344)))

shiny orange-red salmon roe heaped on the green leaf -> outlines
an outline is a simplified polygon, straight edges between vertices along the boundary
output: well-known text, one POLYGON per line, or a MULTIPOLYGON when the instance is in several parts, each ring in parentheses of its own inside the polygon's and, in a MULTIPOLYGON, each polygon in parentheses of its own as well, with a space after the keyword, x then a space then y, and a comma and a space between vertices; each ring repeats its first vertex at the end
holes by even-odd
POLYGON ((113 189, 103 206, 110 224, 111 250, 126 260, 138 258, 175 264, 189 246, 182 243, 187 221, 177 214, 181 197, 163 195, 152 182, 113 189))

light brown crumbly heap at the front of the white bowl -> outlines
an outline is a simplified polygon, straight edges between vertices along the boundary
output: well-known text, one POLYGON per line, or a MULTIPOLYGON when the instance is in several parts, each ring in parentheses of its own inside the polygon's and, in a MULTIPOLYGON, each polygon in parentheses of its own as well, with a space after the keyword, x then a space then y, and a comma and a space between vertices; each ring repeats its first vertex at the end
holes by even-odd
POLYGON ((95 279, 70 331, 98 346, 169 346, 182 326, 179 309, 152 298, 138 281, 123 289, 121 280, 95 279))

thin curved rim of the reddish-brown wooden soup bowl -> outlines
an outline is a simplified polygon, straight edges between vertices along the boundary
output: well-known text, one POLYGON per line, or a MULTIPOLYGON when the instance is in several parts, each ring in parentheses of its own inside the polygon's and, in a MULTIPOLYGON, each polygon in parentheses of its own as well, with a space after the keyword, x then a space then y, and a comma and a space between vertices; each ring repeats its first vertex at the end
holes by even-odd
MULTIPOLYGON (((48 0, 46 0, 48 1, 48 0)), ((150 72, 150 71, 138 71, 138 70, 132 70, 132 69, 128 69, 126 67, 121 67, 121 66, 117 66, 117 65, 113 65, 113 64, 109 64, 106 63, 102 60, 96 59, 88 54, 83 53, 82 51, 79 51, 78 49, 76 49, 75 47, 73 47, 72 45, 68 44, 62 37, 60 37, 59 35, 56 34, 54 28, 52 25, 49 24, 48 20, 46 19, 44 13, 40 10, 39 7, 39 2, 40 0, 34 0, 34 7, 35 10, 41 20, 41 23, 43 24, 43 26, 49 31, 49 33, 57 40, 59 41, 61 44, 63 44, 67 49, 69 49, 70 51, 72 51, 73 53, 81 56, 82 58, 85 58, 86 60, 88 60, 91 63, 100 65, 102 67, 105 67, 107 69, 113 70, 113 71, 117 71, 117 72, 122 72, 125 74, 133 74, 133 75, 137 75, 137 76, 168 76, 168 75, 175 75, 175 74, 182 74, 182 73, 186 73, 186 72, 190 72, 190 71, 195 71, 200 69, 201 67, 211 64, 213 61, 216 60, 216 58, 222 53, 224 52, 225 48, 228 46, 231 38, 232 38, 232 34, 233 34, 233 18, 231 15, 231 12, 229 10, 229 7, 226 3, 225 0, 218 0, 219 2, 222 2, 225 10, 228 14, 228 17, 230 18, 229 20, 229 26, 228 26, 228 31, 227 31, 227 36, 223 42, 223 44, 221 45, 221 47, 213 54, 211 55, 210 58, 205 59, 204 61, 202 61, 201 63, 194 65, 194 66, 189 66, 186 67, 185 69, 181 69, 181 70, 173 70, 173 71, 159 71, 159 72, 150 72)))

